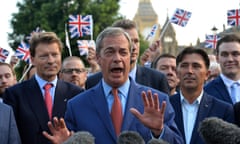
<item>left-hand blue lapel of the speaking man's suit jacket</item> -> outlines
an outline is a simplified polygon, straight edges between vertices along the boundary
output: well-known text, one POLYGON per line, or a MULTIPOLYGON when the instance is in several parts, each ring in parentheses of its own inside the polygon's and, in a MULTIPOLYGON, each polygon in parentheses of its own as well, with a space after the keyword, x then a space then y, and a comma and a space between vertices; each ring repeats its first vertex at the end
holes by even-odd
POLYGON ((109 135, 113 137, 114 140, 117 139, 114 131, 114 127, 112 124, 112 120, 110 117, 110 112, 108 110, 108 104, 106 97, 103 92, 103 86, 102 82, 100 81, 93 89, 92 94, 89 95, 93 106, 95 107, 95 110, 98 114, 98 116, 101 118, 101 122, 104 123, 106 129, 109 132, 109 135))

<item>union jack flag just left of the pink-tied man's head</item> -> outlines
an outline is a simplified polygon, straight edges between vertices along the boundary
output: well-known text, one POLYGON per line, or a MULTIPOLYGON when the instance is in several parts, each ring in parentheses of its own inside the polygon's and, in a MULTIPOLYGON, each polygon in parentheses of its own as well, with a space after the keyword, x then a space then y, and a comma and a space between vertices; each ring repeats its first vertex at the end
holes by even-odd
POLYGON ((19 44, 18 48, 16 49, 15 56, 29 64, 30 63, 29 44, 22 41, 19 44))

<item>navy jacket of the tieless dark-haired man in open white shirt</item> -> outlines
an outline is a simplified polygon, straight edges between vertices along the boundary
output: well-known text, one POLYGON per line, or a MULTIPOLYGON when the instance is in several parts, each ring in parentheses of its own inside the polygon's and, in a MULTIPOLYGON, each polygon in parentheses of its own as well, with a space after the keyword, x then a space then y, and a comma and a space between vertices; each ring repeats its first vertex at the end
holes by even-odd
MULTIPOLYGON (((180 101, 180 94, 176 94, 170 97, 170 102, 176 113, 175 122, 181 131, 185 141, 182 107, 180 101)), ((204 144, 203 139, 198 133, 198 126, 200 122, 206 117, 218 117, 230 123, 235 122, 233 106, 231 104, 218 100, 213 96, 204 93, 199 105, 190 144, 204 144)))

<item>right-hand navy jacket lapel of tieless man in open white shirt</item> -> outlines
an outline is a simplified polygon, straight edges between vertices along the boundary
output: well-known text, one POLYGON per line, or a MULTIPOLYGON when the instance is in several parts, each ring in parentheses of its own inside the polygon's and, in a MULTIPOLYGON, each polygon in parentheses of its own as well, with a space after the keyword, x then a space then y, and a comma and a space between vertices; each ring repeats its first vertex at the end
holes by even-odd
POLYGON ((211 97, 208 97, 206 93, 203 94, 202 100, 199 105, 198 113, 197 113, 197 118, 194 124, 193 132, 192 132, 192 137, 191 137, 191 142, 190 143, 197 143, 197 138, 199 137, 198 133, 198 126, 203 119, 208 117, 209 112, 211 110, 212 106, 212 99, 211 97))

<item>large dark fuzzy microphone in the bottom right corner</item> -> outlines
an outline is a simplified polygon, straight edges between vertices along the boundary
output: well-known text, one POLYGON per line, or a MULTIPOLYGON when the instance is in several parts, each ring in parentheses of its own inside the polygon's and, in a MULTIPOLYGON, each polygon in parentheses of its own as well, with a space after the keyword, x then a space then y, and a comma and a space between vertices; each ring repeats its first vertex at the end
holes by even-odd
POLYGON ((240 143, 240 128, 217 117, 204 119, 198 131, 206 144, 240 143))

